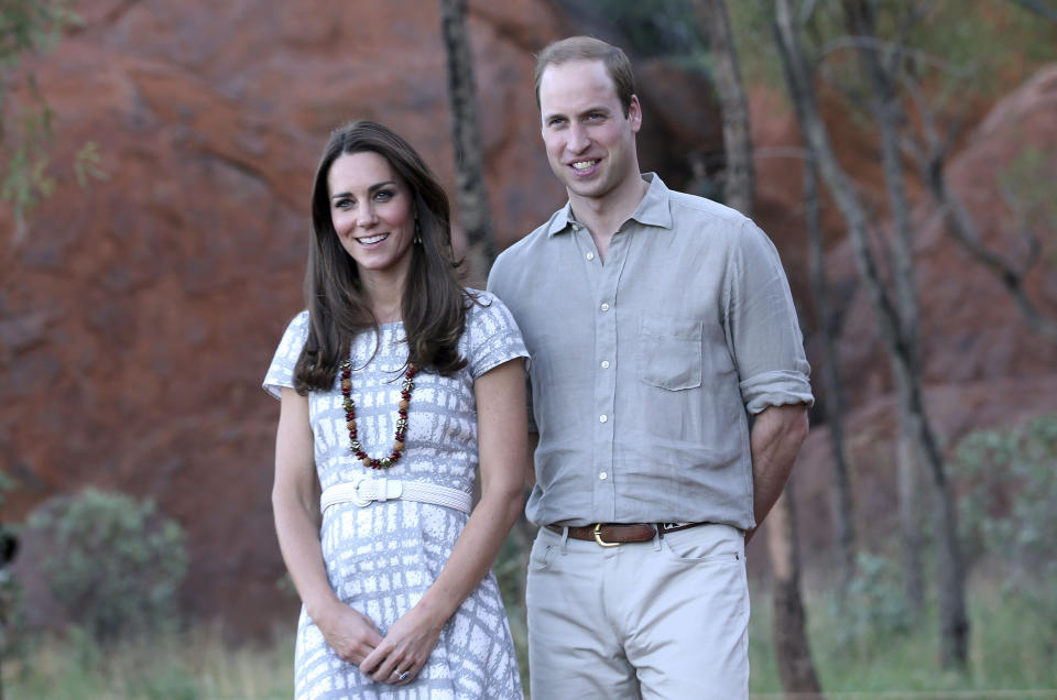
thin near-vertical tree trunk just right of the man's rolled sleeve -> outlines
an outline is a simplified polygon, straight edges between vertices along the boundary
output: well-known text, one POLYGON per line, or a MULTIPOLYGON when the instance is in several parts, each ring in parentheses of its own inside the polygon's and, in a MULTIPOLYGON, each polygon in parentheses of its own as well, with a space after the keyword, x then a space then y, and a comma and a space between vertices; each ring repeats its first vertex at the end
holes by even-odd
POLYGON ((848 586, 856 572, 856 525, 852 505, 851 479, 844 446, 844 408, 837 343, 833 341, 832 311, 826 285, 826 264, 822 253, 822 231, 819 223, 818 171, 810 157, 804 158, 804 208, 807 223, 808 267, 811 295, 818 310, 818 332, 822 339, 822 386, 826 401, 822 411, 829 427, 830 449, 833 453, 832 524, 833 539, 840 559, 840 602, 843 605, 848 586))

